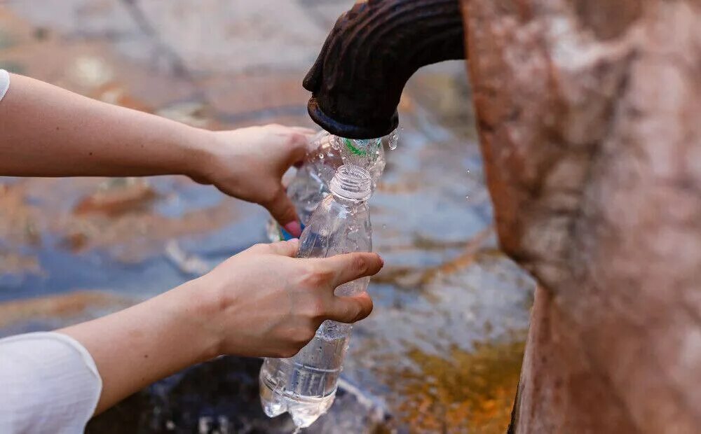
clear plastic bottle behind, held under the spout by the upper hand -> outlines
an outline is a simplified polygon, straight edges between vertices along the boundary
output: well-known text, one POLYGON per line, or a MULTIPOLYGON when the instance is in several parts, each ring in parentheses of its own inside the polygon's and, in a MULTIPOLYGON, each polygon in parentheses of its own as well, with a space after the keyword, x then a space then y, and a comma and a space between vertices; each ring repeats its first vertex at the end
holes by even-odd
MULTIPOLYGON (((372 189, 385 169, 384 146, 396 148, 397 131, 379 139, 345 139, 328 132, 319 132, 309 143, 304 164, 287 186, 287 195, 297 209, 304 228, 316 207, 329 194, 329 182, 341 165, 355 165, 370 172, 372 189)), ((267 225, 268 239, 280 241, 292 235, 271 219, 267 225)))

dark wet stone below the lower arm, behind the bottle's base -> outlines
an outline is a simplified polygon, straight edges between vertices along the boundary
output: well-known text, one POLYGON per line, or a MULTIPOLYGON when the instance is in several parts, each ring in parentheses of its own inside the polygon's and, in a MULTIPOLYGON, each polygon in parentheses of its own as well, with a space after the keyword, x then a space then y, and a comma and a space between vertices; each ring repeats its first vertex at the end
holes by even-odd
MULTIPOLYGON (((291 433, 292 419, 270 419, 258 397, 261 360, 220 357, 192 367, 90 422, 86 433, 291 433)), ((353 386, 341 388, 332 409, 305 433, 374 433, 389 416, 353 386)))

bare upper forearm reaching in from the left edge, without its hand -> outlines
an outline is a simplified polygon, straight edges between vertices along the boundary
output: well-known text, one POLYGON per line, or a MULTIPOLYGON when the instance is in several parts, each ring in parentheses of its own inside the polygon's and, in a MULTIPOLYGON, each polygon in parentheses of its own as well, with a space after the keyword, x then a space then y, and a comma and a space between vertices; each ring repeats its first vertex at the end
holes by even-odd
POLYGON ((0 102, 0 175, 196 176, 207 133, 15 74, 0 102))

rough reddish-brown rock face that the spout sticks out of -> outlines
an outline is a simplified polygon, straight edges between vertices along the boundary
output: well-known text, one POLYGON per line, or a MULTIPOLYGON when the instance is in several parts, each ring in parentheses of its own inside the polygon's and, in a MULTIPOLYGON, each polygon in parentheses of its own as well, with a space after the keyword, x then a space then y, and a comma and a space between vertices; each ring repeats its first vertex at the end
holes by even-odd
POLYGON ((701 1, 461 0, 504 250, 540 281, 518 433, 701 426, 701 1))

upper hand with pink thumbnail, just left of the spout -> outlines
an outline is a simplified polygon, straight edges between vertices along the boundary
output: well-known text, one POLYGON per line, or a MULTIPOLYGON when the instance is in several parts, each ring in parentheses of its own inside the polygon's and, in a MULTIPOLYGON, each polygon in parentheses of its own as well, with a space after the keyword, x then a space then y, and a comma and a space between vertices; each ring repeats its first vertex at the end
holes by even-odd
POLYGON ((314 130, 271 124, 205 134, 208 158, 193 179, 263 205, 287 232, 299 237, 297 212, 282 177, 290 166, 304 160, 314 130))

